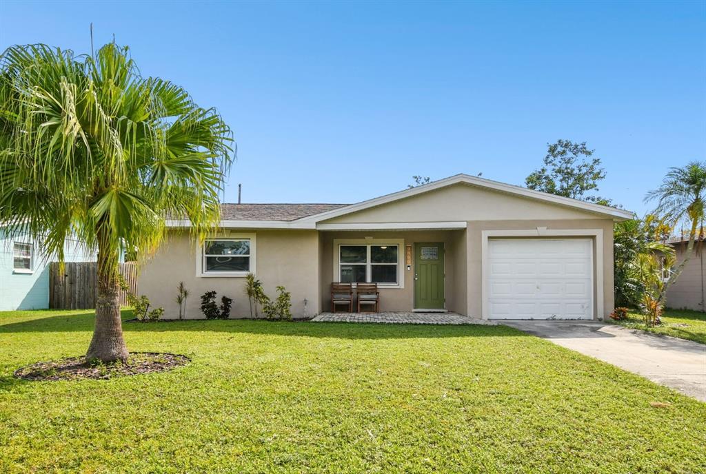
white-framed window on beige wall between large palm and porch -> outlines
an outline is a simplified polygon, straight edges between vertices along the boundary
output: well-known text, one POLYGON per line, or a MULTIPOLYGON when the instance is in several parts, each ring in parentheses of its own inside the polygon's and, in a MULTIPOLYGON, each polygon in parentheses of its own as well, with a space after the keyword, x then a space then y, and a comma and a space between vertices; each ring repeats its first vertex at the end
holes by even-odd
POLYGON ((197 254, 197 277, 244 277, 255 273, 254 234, 207 238, 197 254))

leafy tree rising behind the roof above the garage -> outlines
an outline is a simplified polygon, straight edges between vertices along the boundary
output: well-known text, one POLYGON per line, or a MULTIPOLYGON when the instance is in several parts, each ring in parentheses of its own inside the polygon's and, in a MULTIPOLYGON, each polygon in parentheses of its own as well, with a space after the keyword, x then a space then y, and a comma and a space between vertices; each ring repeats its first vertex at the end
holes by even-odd
POLYGON ((558 140, 547 143, 544 166, 532 171, 525 179, 525 185, 544 193, 610 205, 610 200, 587 195, 598 190, 598 182, 606 177, 601 159, 593 157, 594 151, 586 147, 586 142, 558 140))

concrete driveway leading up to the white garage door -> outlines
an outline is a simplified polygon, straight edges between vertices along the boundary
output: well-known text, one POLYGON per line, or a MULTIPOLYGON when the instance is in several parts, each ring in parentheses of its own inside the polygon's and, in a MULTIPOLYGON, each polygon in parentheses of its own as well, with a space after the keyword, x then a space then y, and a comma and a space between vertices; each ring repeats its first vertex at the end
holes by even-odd
POLYGON ((503 321, 706 401, 706 345, 596 321, 503 321))

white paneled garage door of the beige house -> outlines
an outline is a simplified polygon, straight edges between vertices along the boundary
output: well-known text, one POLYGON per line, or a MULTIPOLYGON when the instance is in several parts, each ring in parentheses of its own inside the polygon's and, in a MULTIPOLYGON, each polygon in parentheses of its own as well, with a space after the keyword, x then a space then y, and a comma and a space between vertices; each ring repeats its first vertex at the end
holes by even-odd
POLYGON ((593 319, 590 239, 491 239, 488 247, 490 319, 593 319))

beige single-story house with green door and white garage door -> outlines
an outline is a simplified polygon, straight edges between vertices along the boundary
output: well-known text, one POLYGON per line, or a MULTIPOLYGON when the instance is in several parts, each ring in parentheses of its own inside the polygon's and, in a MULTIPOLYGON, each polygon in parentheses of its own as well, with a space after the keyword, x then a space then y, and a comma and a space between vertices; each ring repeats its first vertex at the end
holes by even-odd
POLYGON ((140 293, 176 317, 203 317, 209 290, 249 316, 248 272, 292 312, 330 310, 330 284, 376 282, 381 311, 448 310, 488 319, 603 319, 613 310, 613 224, 633 214, 460 174, 353 205, 222 205, 221 230, 197 245, 168 221, 141 269, 140 293))

